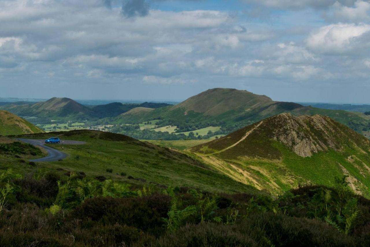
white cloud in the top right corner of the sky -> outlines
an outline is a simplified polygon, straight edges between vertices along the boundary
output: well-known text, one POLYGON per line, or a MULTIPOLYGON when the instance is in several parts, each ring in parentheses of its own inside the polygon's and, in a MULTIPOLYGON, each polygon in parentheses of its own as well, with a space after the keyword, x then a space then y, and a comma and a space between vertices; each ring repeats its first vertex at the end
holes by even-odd
POLYGON ((327 20, 341 22, 366 22, 370 20, 370 3, 358 0, 354 6, 345 6, 336 2, 330 7, 329 12, 324 14, 327 20))

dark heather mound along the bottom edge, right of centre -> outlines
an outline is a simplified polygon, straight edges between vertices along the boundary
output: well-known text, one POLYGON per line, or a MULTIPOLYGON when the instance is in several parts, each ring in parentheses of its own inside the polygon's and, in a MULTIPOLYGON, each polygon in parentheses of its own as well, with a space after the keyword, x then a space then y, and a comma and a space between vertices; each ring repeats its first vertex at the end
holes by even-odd
POLYGON ((251 214, 236 224, 185 225, 152 246, 355 246, 326 223, 274 213, 251 214))

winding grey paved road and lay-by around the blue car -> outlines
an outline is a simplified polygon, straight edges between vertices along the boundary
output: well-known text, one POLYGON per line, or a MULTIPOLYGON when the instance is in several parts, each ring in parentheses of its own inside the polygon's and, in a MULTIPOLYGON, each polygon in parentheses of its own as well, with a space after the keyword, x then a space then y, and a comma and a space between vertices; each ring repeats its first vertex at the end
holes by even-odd
MULTIPOLYGON (((33 162, 58 161, 59 159, 64 159, 68 156, 64 152, 51 148, 50 146, 45 146, 45 140, 23 139, 23 138, 17 138, 17 139, 19 141, 32 144, 34 146, 42 146, 48 152, 48 155, 46 157, 39 158, 39 159, 32 159, 30 161, 33 161, 33 162)), ((63 141, 63 144, 64 145, 81 145, 81 144, 85 144, 85 142, 63 141)), ((53 145, 61 145, 61 144, 53 144, 53 145)))

